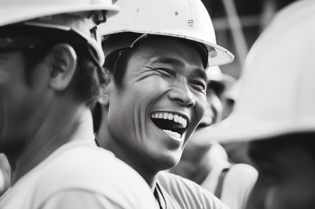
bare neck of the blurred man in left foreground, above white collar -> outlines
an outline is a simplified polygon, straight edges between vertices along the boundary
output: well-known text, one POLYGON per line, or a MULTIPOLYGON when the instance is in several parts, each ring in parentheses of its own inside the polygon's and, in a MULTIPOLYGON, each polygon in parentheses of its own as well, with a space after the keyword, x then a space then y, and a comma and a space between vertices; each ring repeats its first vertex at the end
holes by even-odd
MULTIPOLYGON (((59 108, 60 109, 60 108, 59 108)), ((16 159, 8 156, 14 167, 12 184, 42 162, 63 144, 75 140, 93 140, 90 109, 84 105, 51 111, 34 137, 23 147, 16 159)), ((16 156, 14 156, 16 157, 16 156)))

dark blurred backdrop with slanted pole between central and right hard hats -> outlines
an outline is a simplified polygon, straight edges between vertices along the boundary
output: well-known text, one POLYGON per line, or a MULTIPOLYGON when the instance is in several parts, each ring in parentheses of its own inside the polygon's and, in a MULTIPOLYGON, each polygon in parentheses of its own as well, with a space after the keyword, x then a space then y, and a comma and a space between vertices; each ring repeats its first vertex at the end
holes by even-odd
POLYGON ((211 17, 217 43, 235 59, 220 66, 238 79, 249 49, 277 11, 296 0, 202 0, 211 17))

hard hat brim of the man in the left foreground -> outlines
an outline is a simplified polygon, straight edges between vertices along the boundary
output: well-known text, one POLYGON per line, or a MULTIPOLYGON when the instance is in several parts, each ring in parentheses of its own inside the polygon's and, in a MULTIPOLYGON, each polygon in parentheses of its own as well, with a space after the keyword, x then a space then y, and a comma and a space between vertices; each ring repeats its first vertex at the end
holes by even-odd
POLYGON ((112 17, 116 15, 120 8, 116 5, 103 5, 96 4, 91 6, 15 6, 12 8, 1 8, 0 9, 0 27, 10 24, 15 24, 27 20, 32 20, 39 17, 45 17, 50 15, 59 15, 65 13, 77 13, 77 12, 87 12, 87 11, 107 11, 107 17, 112 17), (14 15, 13 15, 14 14, 14 15))

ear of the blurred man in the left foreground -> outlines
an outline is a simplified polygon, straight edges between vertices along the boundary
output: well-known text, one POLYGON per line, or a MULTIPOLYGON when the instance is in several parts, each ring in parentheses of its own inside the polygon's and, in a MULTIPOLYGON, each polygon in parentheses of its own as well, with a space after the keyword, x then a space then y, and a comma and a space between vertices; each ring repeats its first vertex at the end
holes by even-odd
POLYGON ((53 47, 50 59, 49 86, 57 91, 66 89, 72 80, 76 69, 77 56, 68 44, 58 44, 53 47))

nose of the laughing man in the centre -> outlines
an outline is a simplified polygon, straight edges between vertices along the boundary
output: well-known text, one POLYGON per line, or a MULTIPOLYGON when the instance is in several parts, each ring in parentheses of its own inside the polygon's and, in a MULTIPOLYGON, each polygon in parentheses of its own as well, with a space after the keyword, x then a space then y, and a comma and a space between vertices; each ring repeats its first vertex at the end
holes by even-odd
POLYGON ((196 100, 187 84, 179 83, 174 85, 172 90, 169 91, 169 97, 185 107, 193 107, 196 104, 196 100))

